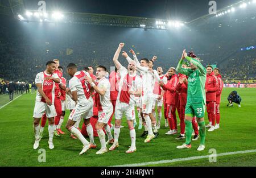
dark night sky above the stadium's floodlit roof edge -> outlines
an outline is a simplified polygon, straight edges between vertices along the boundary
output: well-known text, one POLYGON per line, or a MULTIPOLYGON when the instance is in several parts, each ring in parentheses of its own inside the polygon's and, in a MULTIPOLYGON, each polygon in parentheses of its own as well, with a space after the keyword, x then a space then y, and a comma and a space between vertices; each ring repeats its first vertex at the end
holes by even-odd
MULTIPOLYGON (((175 19, 189 22, 208 14, 208 0, 45 0, 47 11, 60 10, 81 13, 141 16, 175 19)), ((38 9, 38 1, 24 0, 28 10, 38 9)), ((216 0, 217 10, 239 0, 216 0)))

